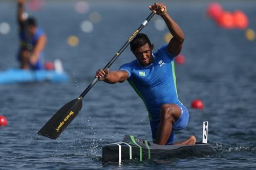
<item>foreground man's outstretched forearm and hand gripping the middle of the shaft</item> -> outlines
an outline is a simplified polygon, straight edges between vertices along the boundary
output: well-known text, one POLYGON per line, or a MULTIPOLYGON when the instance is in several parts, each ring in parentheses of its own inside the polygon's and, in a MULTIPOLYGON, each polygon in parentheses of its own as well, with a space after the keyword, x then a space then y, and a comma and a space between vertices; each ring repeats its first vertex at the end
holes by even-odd
POLYGON ((108 68, 104 72, 99 69, 95 74, 95 78, 110 84, 122 83, 129 78, 129 73, 125 70, 110 71, 108 68))

